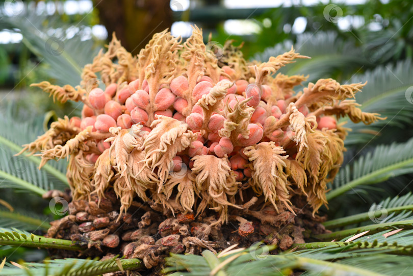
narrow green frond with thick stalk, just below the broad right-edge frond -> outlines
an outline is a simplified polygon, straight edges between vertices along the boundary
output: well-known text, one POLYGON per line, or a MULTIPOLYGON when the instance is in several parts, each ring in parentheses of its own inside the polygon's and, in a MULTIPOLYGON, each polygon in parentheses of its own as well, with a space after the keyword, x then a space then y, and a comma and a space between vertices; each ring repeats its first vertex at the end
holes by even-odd
POLYGON ((412 219, 413 194, 411 192, 403 196, 388 197, 378 204, 373 204, 369 212, 352 216, 327 220, 323 223, 325 228, 334 229, 350 224, 356 224, 373 218, 380 218, 382 222, 400 221, 412 219))

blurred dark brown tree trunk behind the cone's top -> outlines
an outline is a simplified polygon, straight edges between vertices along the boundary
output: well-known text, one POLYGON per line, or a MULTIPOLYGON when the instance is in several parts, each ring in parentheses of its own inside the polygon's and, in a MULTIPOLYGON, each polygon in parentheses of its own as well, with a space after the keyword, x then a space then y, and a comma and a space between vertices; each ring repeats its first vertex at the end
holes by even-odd
POLYGON ((108 30, 108 39, 115 32, 133 54, 138 54, 153 34, 172 25, 170 0, 93 0, 93 3, 101 24, 108 30))

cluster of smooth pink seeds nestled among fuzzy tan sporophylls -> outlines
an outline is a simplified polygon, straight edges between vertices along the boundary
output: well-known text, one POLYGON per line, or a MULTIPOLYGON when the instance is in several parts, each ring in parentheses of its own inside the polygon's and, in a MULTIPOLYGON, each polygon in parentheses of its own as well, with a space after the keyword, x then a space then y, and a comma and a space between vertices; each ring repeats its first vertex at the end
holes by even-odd
MULTIPOLYGON (((222 69, 229 75, 234 76, 234 69, 224 66, 222 69)), ((93 131, 107 133, 111 127, 120 127, 122 129, 130 129, 133 124, 140 123, 144 127, 142 131, 150 132, 150 123, 148 123, 148 113, 145 111, 149 104, 149 86, 146 80, 142 83, 142 89, 139 88, 139 80, 134 80, 128 83, 127 86, 119 89, 116 83, 110 84, 105 91, 100 88, 94 88, 88 95, 87 104, 82 110, 82 119, 72 117, 70 120, 76 127, 82 130, 88 126, 93 126, 93 131)), ((287 144, 286 139, 290 139, 294 135, 291 130, 276 130, 271 135, 264 136, 264 125, 266 120, 278 120, 286 114, 286 100, 288 95, 283 99, 278 99, 275 105, 268 107, 267 99, 273 92, 270 86, 257 86, 250 84, 246 80, 229 81, 226 77, 221 76, 220 85, 227 84, 229 86, 223 103, 228 103, 230 108, 234 108, 237 102, 244 101, 249 98, 247 105, 254 108, 248 125, 249 135, 247 138, 239 135, 238 145, 234 146, 231 140, 227 137, 220 137, 219 130, 224 127, 226 118, 222 115, 222 109, 219 113, 213 112, 208 121, 208 130, 205 130, 203 109, 199 105, 194 105, 191 113, 186 117, 183 115, 188 107, 187 99, 184 98, 185 91, 189 88, 188 79, 185 76, 174 78, 169 87, 161 87, 154 98, 154 106, 157 111, 154 115, 163 115, 174 119, 186 122, 189 129, 194 133, 198 133, 198 138, 192 142, 191 146, 184 152, 180 152, 174 157, 173 170, 179 171, 183 164, 192 168, 194 161, 191 158, 197 155, 216 155, 217 157, 229 157, 230 167, 235 171, 237 180, 242 180, 244 177, 251 177, 251 169, 249 168, 248 157, 244 155, 244 147, 254 145, 260 141, 274 141, 277 145, 287 144), (260 102, 264 102, 260 105, 260 102), (273 116, 274 118, 270 118, 273 116)), ((208 76, 203 76, 199 79, 192 91, 192 96, 198 100, 202 95, 208 94, 214 87, 215 83, 208 76)), ((261 102, 261 103, 262 103, 261 102)), ((299 111, 307 116, 309 110, 303 106, 299 111)), ((317 118, 318 129, 328 128, 335 129, 337 127, 336 120, 330 116, 317 118)), ((110 147, 110 143, 104 140, 96 141, 98 150, 102 153, 110 147)), ((95 163, 99 155, 89 154, 87 159, 95 163)), ((295 158, 292 156, 291 158, 295 158)))

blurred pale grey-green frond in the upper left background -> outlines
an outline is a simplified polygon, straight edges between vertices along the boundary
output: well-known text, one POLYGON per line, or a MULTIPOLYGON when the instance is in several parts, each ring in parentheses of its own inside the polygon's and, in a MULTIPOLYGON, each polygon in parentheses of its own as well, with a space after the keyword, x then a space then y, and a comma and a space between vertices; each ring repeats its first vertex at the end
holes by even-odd
POLYGON ((56 85, 78 85, 83 66, 92 61, 100 48, 93 39, 82 39, 82 36, 87 35, 82 24, 76 31, 73 30, 75 27, 71 27, 72 30, 69 31, 76 33, 72 38, 60 37, 66 36, 70 27, 63 22, 60 15, 46 16, 27 12, 19 16, 4 17, 2 21, 8 28, 19 30, 23 36, 22 42, 41 62, 48 65, 47 74, 54 79, 56 85))

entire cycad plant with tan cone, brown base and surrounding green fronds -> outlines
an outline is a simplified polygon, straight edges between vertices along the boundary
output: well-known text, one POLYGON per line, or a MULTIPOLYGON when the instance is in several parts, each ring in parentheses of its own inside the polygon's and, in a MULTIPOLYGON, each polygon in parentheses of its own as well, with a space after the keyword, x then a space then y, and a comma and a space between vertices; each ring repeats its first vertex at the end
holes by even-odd
POLYGON ((36 84, 60 101, 83 102, 82 117, 59 119, 33 139, 16 135, 31 126, 4 114, 2 187, 53 197, 63 203, 59 209, 50 201, 54 213, 68 215, 47 228, 47 218, 2 210, 2 249, 48 248, 57 259, 5 259, 0 274, 409 271, 407 190, 362 213, 329 220, 320 214, 327 202, 338 208, 366 185, 391 186, 390 179, 413 172, 413 140, 343 157, 346 136, 356 148, 385 136, 383 127, 410 123, 406 89, 390 77, 411 83, 410 63, 392 72, 377 68, 351 85, 321 79, 295 92, 307 77, 277 71, 297 58, 306 57, 291 50, 249 63, 229 44, 208 51, 198 29, 185 43, 163 32, 138 57, 114 39, 85 67, 80 86, 36 84), (369 89, 359 80, 376 85, 374 97, 362 98, 366 110, 348 99, 369 89), (371 127, 351 125, 351 133, 332 115, 371 127), (46 228, 45 236, 38 232, 46 228))

